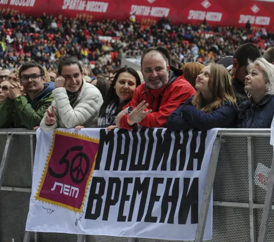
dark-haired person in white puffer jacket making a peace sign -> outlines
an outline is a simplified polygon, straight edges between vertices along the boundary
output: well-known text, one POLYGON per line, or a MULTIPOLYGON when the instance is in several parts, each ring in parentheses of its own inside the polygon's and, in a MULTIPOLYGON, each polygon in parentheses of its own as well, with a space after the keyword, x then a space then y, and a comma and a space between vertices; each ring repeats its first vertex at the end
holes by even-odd
POLYGON ((54 101, 46 110, 41 129, 97 127, 103 98, 100 91, 86 83, 82 76, 83 70, 77 59, 66 57, 60 61, 52 92, 54 101))

